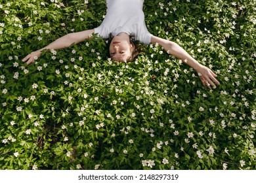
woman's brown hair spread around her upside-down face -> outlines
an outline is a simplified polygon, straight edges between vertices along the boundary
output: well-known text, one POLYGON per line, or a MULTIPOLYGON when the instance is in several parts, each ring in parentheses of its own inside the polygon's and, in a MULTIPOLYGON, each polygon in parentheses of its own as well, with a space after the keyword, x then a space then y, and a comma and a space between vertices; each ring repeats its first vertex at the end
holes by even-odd
MULTIPOLYGON (((135 35, 132 33, 131 35, 129 35, 130 37, 130 43, 133 45, 133 50, 131 52, 131 57, 129 59, 127 59, 127 62, 131 62, 131 61, 135 61, 135 59, 137 58, 137 56, 139 55, 140 51, 142 51, 142 46, 140 45, 139 41, 135 41, 135 35)), ((110 33, 109 37, 108 37, 108 43, 107 46, 108 48, 110 48, 110 42, 112 41, 112 39, 114 38, 114 36, 112 35, 112 33, 110 33)), ((110 58, 110 52, 108 52, 108 57, 110 58)))

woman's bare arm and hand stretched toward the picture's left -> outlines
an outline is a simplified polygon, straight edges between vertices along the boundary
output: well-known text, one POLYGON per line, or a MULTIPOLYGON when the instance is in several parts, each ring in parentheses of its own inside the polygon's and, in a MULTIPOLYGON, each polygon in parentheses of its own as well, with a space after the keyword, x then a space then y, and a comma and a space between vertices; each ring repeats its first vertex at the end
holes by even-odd
POLYGON ((63 37, 60 37, 59 39, 51 42, 51 44, 45 46, 44 48, 28 54, 28 56, 22 59, 22 61, 27 61, 26 63, 29 65, 30 63, 33 63, 35 61, 35 58, 39 58, 42 50, 58 50, 62 48, 68 48, 72 44, 77 44, 79 42, 85 41, 85 39, 89 39, 94 32, 94 29, 89 29, 87 31, 69 33, 67 35, 64 35, 63 37))

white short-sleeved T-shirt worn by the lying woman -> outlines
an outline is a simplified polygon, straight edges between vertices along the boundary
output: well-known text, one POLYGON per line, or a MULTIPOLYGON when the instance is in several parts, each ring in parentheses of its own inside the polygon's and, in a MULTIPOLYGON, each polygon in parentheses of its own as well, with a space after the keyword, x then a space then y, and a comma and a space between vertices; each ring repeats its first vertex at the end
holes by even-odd
POLYGON ((150 44, 152 34, 144 22, 144 0, 106 0, 107 11, 102 24, 95 28, 95 33, 108 38, 110 33, 115 37, 124 32, 134 33, 135 40, 150 44))

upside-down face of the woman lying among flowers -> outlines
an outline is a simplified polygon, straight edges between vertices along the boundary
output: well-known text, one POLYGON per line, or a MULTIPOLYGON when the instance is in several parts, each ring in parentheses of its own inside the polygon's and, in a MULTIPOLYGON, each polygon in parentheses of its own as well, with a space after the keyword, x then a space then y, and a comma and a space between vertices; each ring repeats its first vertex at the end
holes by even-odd
POLYGON ((131 58, 132 44, 121 37, 114 37, 110 42, 110 56, 112 59, 123 62, 131 58))

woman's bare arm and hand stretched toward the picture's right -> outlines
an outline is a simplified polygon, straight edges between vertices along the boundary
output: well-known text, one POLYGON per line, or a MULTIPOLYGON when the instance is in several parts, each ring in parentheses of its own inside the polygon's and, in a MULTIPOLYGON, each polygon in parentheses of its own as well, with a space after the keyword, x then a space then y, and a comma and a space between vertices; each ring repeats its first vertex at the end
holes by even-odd
POLYGON ((190 54, 188 54, 188 52, 181 48, 181 46, 179 46, 177 43, 167 41, 156 36, 152 36, 151 43, 160 44, 160 46, 162 46, 168 54, 182 59, 184 63, 195 69, 200 77, 200 80, 202 81, 203 86, 207 86, 209 89, 211 89, 211 86, 216 88, 215 84, 220 84, 219 81, 215 78, 217 75, 215 75, 211 69, 198 63, 196 59, 192 58, 192 56, 190 56, 190 54))

